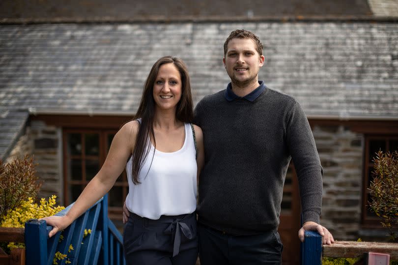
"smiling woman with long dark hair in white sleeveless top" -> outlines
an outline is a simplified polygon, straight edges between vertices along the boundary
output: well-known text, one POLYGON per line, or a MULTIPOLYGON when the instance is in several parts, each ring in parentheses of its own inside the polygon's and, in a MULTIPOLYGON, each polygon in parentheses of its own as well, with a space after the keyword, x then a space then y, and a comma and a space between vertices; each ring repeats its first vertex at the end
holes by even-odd
POLYGON ((114 136, 101 170, 65 216, 43 218, 53 226, 49 236, 65 229, 104 196, 126 167, 126 206, 131 212, 123 235, 127 263, 195 264, 197 176, 204 152, 202 131, 189 123, 192 119, 184 62, 175 57, 157 60, 134 120, 114 136))

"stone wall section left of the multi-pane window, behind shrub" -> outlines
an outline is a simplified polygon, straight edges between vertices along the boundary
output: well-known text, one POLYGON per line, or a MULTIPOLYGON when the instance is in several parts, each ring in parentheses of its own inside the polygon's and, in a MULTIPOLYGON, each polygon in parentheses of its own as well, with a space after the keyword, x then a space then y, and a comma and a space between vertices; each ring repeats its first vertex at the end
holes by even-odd
POLYGON ((42 181, 37 197, 48 198, 57 195, 57 202, 62 205, 62 177, 60 176, 62 160, 60 159, 61 147, 59 128, 48 126, 43 121, 31 121, 25 135, 21 136, 18 143, 10 152, 6 162, 10 162, 18 155, 33 154, 36 174, 42 181))

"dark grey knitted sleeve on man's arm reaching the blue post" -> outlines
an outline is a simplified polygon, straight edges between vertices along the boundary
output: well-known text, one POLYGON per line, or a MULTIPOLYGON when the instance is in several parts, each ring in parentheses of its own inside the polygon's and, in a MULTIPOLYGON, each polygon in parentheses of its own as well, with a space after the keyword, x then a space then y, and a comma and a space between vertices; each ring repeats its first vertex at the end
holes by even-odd
POLYGON ((286 143, 299 181, 302 221, 319 224, 323 169, 310 124, 297 101, 288 117, 286 143))

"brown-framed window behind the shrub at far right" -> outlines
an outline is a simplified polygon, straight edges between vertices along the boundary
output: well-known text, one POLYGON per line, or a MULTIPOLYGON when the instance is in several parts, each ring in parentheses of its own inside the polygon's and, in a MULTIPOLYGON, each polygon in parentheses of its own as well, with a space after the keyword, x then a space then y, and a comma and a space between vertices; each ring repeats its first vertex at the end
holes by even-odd
POLYGON ((364 182, 363 182, 363 202, 362 202, 362 223, 366 225, 380 225, 380 219, 370 211, 368 202, 371 199, 369 194, 370 182, 373 179, 373 159, 375 153, 379 150, 394 152, 398 150, 398 135, 395 136, 380 136, 380 135, 366 135, 365 136, 365 159, 364 159, 364 182))

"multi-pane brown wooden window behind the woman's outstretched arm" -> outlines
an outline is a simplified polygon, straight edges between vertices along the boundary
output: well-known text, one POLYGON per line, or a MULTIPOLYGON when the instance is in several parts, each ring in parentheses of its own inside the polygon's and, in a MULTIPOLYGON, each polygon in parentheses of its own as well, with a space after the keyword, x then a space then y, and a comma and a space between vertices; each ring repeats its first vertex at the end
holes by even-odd
MULTIPOLYGON (((64 130, 64 201, 70 205, 97 174, 111 146, 116 130, 64 130)), ((126 161, 127 162, 127 161, 126 161)), ((121 220, 128 192, 126 172, 117 178, 109 192, 109 216, 121 220)))

